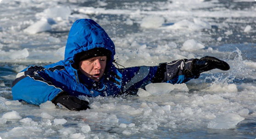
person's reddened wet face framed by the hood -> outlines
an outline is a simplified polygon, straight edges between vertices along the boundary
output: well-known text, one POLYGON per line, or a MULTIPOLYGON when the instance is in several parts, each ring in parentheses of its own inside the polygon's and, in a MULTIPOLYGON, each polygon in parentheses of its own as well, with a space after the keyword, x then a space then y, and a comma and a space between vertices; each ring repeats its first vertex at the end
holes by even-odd
POLYGON ((106 68, 106 56, 99 56, 90 59, 85 59, 79 62, 79 69, 90 79, 99 81, 103 76, 106 68))

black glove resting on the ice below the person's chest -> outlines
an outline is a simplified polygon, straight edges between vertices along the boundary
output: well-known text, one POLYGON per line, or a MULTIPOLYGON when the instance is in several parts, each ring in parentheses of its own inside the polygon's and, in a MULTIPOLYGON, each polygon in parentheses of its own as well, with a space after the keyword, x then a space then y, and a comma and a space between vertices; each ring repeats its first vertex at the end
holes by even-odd
POLYGON ((51 102, 59 107, 64 107, 75 111, 81 111, 90 108, 88 106, 89 102, 81 100, 76 96, 68 95, 65 91, 58 94, 51 102))

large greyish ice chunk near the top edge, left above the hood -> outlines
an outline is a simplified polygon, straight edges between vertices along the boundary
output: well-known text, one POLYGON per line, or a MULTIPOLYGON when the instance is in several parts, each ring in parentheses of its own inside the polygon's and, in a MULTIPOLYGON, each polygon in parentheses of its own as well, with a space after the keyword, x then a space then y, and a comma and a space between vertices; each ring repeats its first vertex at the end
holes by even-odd
POLYGON ((47 17, 58 18, 58 19, 68 19, 68 16, 71 14, 71 10, 67 6, 55 6, 52 8, 45 9, 44 13, 47 17))

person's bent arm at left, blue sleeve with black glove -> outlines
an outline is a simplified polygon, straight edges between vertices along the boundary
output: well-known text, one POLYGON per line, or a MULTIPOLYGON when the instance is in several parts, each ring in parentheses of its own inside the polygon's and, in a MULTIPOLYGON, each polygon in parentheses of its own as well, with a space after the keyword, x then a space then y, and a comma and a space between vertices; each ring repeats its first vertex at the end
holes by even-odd
POLYGON ((51 101, 59 107, 78 111, 89 108, 88 102, 80 100, 58 87, 61 84, 58 85, 57 74, 54 72, 61 70, 60 68, 64 69, 60 66, 48 69, 42 66, 31 66, 18 73, 12 85, 13 100, 25 101, 34 105, 51 101))

